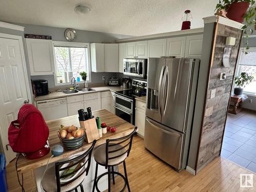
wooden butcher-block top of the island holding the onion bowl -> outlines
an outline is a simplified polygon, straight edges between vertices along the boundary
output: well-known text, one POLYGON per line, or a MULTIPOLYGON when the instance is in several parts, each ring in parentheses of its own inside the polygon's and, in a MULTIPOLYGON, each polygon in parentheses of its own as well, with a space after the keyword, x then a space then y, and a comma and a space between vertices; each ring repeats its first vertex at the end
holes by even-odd
MULTIPOLYGON (((115 139, 115 138, 123 137, 125 135, 130 134, 135 127, 133 124, 121 119, 120 117, 106 110, 93 111, 92 114, 95 117, 99 116, 101 118, 101 122, 105 122, 109 126, 116 126, 117 128, 115 133, 108 132, 106 134, 103 134, 103 137, 97 140, 95 147, 97 145, 105 143, 106 139, 115 139)), ((57 131, 59 130, 59 127, 61 124, 67 125, 67 126, 72 124, 74 124, 75 126, 80 126, 78 115, 63 117, 60 119, 47 121, 46 123, 50 131, 50 134, 49 134, 50 147, 53 147, 55 144, 60 144, 59 138, 57 136, 57 131)), ((83 145, 76 150, 69 150, 69 151, 64 150, 62 155, 57 157, 52 157, 49 163, 61 161, 65 158, 70 158, 72 155, 88 150, 90 146, 91 146, 91 143, 84 142, 83 145)), ((38 168, 40 166, 44 166, 47 164, 51 156, 52 156, 51 152, 44 157, 34 159, 34 160, 28 160, 25 157, 20 156, 17 164, 18 172, 24 173, 29 170, 38 168)))

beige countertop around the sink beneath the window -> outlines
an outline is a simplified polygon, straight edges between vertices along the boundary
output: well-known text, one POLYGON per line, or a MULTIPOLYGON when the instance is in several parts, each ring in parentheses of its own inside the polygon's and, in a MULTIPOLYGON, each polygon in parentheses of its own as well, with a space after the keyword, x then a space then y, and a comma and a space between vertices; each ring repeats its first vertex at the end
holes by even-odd
POLYGON ((70 97, 70 96, 75 96, 75 95, 83 95, 83 94, 89 94, 89 93, 97 93, 97 92, 104 92, 104 91, 123 91, 123 90, 128 90, 128 89, 123 89, 122 87, 114 87, 114 86, 105 86, 105 87, 95 87, 91 88, 94 89, 95 91, 88 91, 88 92, 82 92, 79 91, 78 93, 71 93, 71 94, 65 94, 62 92, 52 92, 48 95, 44 96, 38 96, 34 98, 34 101, 41 101, 41 100, 48 100, 48 99, 57 99, 61 97, 70 97))

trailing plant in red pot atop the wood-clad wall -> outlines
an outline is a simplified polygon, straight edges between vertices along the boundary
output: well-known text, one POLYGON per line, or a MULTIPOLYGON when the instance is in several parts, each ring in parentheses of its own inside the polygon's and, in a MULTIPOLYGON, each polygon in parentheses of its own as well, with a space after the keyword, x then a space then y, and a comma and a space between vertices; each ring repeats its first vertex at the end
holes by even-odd
MULTIPOLYGON (((255 0, 219 0, 219 3, 216 5, 216 10, 225 9, 227 12, 226 16, 231 20, 243 23, 245 19, 245 25, 242 27, 242 29, 246 37, 246 50, 250 49, 248 43, 248 34, 253 33, 253 29, 249 29, 249 26, 255 25, 256 7, 253 7, 254 4, 255 0)), ((246 51, 245 54, 248 54, 248 52, 246 51)))

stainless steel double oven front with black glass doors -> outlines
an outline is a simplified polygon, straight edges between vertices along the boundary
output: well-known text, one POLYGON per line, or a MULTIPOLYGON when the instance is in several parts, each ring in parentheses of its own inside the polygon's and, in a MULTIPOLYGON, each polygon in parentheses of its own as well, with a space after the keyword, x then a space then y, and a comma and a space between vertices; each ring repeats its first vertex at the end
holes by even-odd
POLYGON ((115 113, 120 118, 124 119, 127 122, 134 123, 134 100, 114 94, 115 97, 115 113))

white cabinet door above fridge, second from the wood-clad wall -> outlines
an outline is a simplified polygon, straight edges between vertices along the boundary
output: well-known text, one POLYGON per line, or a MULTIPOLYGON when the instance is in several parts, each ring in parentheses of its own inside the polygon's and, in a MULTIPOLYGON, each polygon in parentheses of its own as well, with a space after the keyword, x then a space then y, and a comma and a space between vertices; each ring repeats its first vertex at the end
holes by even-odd
POLYGON ((185 43, 186 37, 167 38, 166 56, 184 57, 185 43))

